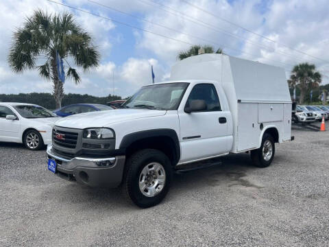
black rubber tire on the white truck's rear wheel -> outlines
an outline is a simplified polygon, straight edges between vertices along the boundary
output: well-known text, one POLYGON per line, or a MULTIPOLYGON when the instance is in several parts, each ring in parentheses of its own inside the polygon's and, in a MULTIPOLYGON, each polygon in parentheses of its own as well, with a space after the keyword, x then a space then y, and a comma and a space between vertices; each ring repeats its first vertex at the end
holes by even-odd
POLYGON ((250 153, 253 165, 262 168, 271 165, 275 154, 276 154, 276 146, 273 137, 271 136, 271 134, 267 134, 267 133, 263 135, 262 145, 260 145, 260 148, 258 148, 257 150, 252 150, 252 152, 250 153), (271 148, 272 148, 271 157, 269 158, 269 160, 267 160, 263 156, 263 148, 265 148, 266 151, 266 147, 264 147, 264 144, 268 143, 267 141, 271 143, 271 148))

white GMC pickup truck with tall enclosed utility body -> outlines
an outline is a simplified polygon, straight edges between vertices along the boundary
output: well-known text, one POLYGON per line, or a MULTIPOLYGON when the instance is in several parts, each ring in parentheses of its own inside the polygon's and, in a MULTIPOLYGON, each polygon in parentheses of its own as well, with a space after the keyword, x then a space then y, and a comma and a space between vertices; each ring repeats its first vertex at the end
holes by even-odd
POLYGON ((139 207, 166 196, 186 164, 251 151, 267 167, 290 141, 284 70, 220 54, 186 58, 171 80, 143 86, 118 110, 66 117, 53 128, 48 169, 82 185, 118 187, 139 207))

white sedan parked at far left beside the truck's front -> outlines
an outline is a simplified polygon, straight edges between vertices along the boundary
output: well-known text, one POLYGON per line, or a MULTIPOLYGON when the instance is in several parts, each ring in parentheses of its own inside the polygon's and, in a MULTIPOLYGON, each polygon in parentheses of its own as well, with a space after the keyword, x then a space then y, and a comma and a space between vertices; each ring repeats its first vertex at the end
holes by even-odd
POLYGON ((60 119, 42 106, 0 102, 0 141, 23 143, 40 150, 51 143, 51 132, 60 119))

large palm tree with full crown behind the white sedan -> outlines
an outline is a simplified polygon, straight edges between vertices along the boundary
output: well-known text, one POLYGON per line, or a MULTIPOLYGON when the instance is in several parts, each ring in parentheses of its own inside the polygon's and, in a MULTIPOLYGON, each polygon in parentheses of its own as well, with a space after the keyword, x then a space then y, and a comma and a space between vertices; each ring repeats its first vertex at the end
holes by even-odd
POLYGON ((64 89, 58 78, 56 54, 66 61, 66 76, 78 84, 80 75, 67 59, 82 67, 84 72, 96 67, 100 54, 92 41, 90 34, 75 23, 72 14, 51 15, 36 10, 25 19, 23 27, 14 32, 8 62, 15 73, 38 69, 42 78, 52 80, 53 97, 56 107, 60 107, 64 89))

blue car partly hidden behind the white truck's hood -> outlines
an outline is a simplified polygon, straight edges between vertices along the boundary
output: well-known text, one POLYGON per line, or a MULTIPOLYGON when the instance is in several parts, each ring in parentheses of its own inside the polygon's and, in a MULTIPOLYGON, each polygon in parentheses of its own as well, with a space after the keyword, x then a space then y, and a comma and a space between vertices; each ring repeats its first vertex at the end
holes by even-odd
POLYGON ((113 110, 112 107, 102 104, 71 104, 60 109, 54 110, 53 113, 60 117, 67 117, 79 113, 90 113, 98 110, 113 110))

